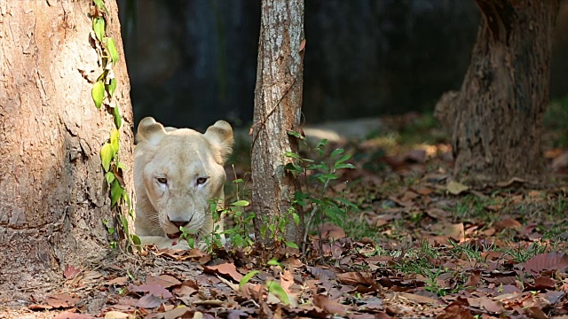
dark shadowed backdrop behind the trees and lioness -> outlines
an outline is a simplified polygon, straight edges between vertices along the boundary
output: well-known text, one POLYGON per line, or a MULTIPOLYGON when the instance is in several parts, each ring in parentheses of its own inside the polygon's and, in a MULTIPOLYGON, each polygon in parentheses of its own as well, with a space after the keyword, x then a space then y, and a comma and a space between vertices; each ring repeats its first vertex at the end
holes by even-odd
MULTIPOLYGON (((259 0, 119 0, 135 120, 177 127, 252 121, 259 0)), ((432 111, 459 89, 480 15, 474 0, 306 0, 304 121, 432 111)), ((568 93, 568 1, 550 92, 568 93)))

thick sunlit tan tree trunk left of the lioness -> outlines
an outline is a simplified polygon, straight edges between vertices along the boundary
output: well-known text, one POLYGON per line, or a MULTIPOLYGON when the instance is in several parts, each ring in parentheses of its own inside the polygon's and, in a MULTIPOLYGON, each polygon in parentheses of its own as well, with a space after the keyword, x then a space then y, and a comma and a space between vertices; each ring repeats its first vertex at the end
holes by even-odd
MULTIPOLYGON (((98 110, 102 72, 91 45, 91 1, 0 0, 0 300, 89 268, 108 253, 112 220, 99 150, 114 127, 98 110)), ((120 59, 114 101, 122 113, 121 161, 132 167, 130 82, 114 0, 106 33, 120 59)), ((130 171, 124 182, 131 191, 130 171)))

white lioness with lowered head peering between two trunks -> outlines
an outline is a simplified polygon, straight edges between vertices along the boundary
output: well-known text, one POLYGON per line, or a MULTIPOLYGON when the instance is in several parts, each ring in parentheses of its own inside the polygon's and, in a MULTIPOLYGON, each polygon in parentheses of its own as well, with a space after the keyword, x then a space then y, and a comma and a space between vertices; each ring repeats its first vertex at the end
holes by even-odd
POLYGON ((218 228, 214 225, 209 200, 218 199, 223 205, 223 165, 233 146, 231 125, 217 121, 201 134, 189 128, 164 128, 146 117, 138 124, 136 137, 134 225, 142 244, 186 249, 186 241, 178 238, 182 226, 198 240, 214 229, 223 231, 223 221, 218 228))

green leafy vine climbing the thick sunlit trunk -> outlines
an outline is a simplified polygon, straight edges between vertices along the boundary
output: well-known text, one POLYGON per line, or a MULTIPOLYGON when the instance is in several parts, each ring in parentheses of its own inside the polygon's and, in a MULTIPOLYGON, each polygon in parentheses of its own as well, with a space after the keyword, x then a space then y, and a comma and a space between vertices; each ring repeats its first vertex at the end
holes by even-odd
MULTIPOLYGON (((106 183, 110 189, 111 207, 118 209, 119 220, 122 224, 124 237, 135 245, 140 244, 140 239, 134 234, 130 234, 128 228, 128 220, 124 209, 128 210, 128 214, 133 218, 132 205, 128 192, 124 189, 122 180, 123 172, 127 167, 119 160, 120 150, 120 128, 122 119, 118 105, 113 101, 114 90, 118 84, 114 77, 113 67, 118 61, 118 51, 114 39, 106 35, 106 22, 108 21, 108 10, 106 9, 104 0, 92 0, 91 19, 92 19, 92 39, 95 44, 95 50, 99 56, 99 63, 103 68, 103 72, 97 78, 91 89, 92 100, 100 109, 105 106, 108 113, 114 116, 114 128, 110 132, 108 141, 102 145, 100 149, 100 161, 105 170, 106 183)), ((108 225, 106 225, 108 227, 108 225)), ((109 233, 114 232, 114 228, 109 228, 109 233)), ((112 234, 111 234, 112 235, 112 234)), ((116 242, 111 243, 116 247, 116 242)))

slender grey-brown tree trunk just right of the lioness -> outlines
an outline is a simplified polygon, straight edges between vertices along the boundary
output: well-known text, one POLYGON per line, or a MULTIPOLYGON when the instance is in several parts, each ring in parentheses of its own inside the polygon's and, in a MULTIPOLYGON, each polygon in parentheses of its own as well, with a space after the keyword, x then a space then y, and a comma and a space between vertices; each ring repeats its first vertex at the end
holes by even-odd
POLYGON ((304 0, 263 0, 261 14, 251 159, 255 234, 258 242, 270 245, 270 231, 261 237, 261 229, 288 218, 283 235, 298 244, 304 229, 288 215, 296 181, 284 169, 292 160, 284 153, 297 150, 296 137, 287 132, 300 122, 304 0))

